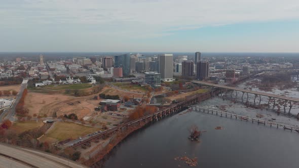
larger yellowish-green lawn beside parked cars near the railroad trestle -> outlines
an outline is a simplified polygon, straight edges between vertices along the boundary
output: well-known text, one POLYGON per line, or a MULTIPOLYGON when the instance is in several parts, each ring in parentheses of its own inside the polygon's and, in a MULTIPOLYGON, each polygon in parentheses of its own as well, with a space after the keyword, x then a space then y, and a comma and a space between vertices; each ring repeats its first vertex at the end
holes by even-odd
POLYGON ((98 128, 86 127, 73 122, 57 122, 45 138, 56 139, 58 141, 68 138, 76 139, 99 130, 98 128))

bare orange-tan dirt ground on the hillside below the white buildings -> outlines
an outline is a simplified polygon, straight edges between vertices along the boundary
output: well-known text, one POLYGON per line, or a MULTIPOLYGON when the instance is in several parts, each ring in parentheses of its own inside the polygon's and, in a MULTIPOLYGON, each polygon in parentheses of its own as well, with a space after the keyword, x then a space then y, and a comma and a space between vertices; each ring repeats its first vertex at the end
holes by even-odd
MULTIPOLYGON (((110 87, 105 87, 101 93, 109 95, 119 95, 141 98, 142 95, 122 92, 110 87)), ((38 114, 43 116, 53 116, 53 113, 57 113, 57 117, 64 114, 75 113, 78 118, 83 118, 85 116, 91 116, 95 110, 94 108, 99 105, 102 100, 95 100, 94 96, 98 94, 86 96, 86 97, 73 97, 63 94, 42 94, 29 92, 25 98, 25 108, 29 110, 29 115, 38 114)))

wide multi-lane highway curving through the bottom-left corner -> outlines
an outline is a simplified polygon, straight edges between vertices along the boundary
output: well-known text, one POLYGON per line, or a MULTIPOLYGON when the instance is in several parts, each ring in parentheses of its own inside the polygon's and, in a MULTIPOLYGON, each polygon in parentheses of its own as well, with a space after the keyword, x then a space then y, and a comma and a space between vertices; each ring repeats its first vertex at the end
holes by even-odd
POLYGON ((86 167, 56 155, 7 144, 0 144, 0 163, 0 167, 86 167))

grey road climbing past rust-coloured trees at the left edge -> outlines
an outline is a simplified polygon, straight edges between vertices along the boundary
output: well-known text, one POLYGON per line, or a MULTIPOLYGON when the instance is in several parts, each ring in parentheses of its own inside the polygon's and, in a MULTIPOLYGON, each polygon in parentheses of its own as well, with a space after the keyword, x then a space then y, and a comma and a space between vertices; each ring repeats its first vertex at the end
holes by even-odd
POLYGON ((23 80, 23 83, 21 84, 21 88, 17 95, 16 100, 14 101, 11 108, 5 109, 3 111, 3 113, 0 115, 0 122, 2 122, 5 119, 14 120, 13 116, 16 115, 16 106, 17 106, 18 102, 20 101, 24 90, 27 88, 27 82, 28 82, 28 80, 23 80))

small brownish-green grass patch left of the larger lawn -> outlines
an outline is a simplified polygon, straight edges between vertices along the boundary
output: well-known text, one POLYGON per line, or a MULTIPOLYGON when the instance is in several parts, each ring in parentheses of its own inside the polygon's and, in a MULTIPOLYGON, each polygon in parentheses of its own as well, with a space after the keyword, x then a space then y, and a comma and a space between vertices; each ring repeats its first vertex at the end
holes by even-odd
POLYGON ((44 125, 43 121, 23 121, 23 122, 16 122, 12 125, 10 130, 14 130, 17 134, 20 134, 24 131, 35 129, 38 127, 42 127, 44 125))

